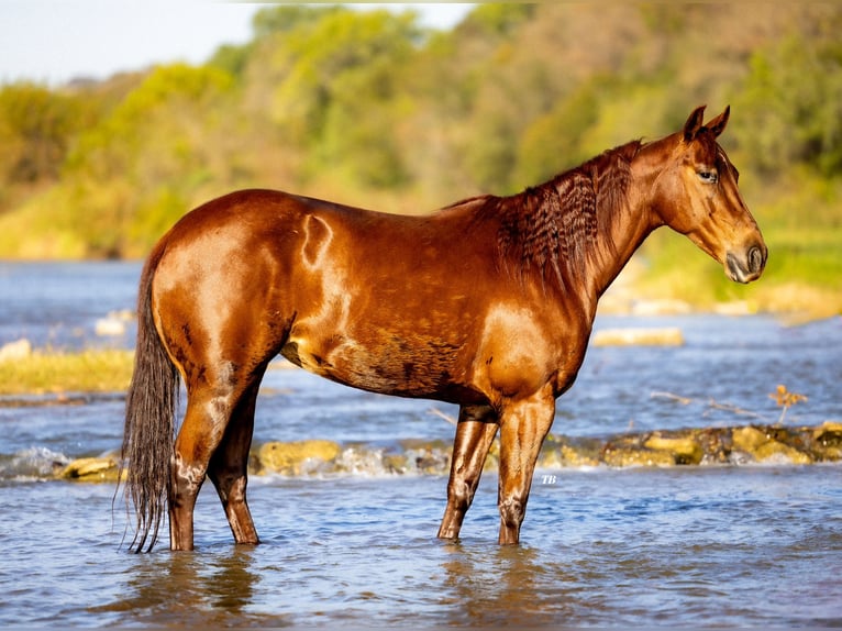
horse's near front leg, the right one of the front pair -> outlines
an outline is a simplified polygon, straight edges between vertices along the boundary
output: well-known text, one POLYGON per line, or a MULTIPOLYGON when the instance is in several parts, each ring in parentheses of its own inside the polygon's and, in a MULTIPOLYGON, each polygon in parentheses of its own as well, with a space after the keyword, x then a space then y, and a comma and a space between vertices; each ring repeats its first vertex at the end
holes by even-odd
POLYGON ((501 544, 520 540, 541 445, 555 417, 555 398, 545 387, 529 399, 510 402, 500 414, 500 509, 501 544))

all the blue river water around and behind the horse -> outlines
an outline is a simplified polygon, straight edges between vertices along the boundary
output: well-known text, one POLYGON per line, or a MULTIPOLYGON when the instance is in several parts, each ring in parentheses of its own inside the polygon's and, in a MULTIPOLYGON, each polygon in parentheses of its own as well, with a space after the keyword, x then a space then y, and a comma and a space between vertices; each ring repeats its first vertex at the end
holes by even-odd
MULTIPOLYGON (((133 308, 139 273, 0 263, 0 345, 131 347, 131 325, 96 331, 133 308)), ((808 396, 787 425, 842 420, 840 318, 598 318, 598 330, 616 326, 677 326, 686 343, 591 348, 554 434, 773 423, 778 384, 808 396)), ((444 471, 397 474, 381 456, 407 441, 450 442, 442 414, 455 408, 274 368, 255 444, 328 439, 356 460, 253 476, 256 547, 233 545, 208 486, 196 552, 128 554, 113 486, 53 477, 119 447, 120 394, 0 405, 0 626, 842 627, 842 465, 544 468, 516 547, 496 543, 488 472, 462 538, 443 542, 444 471)))

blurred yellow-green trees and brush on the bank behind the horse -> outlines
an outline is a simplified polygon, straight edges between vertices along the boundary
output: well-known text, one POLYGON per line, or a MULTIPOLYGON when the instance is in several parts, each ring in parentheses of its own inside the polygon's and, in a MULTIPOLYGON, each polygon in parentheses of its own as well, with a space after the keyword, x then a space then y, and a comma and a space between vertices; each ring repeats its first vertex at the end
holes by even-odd
MULTIPOLYGON (((840 27, 842 7, 816 3, 488 3, 444 32, 411 11, 266 5, 250 43, 202 66, 0 87, 0 255, 143 256, 247 186, 401 211, 514 192, 730 102, 763 285, 839 294, 840 27)), ((662 291, 768 302, 698 254, 687 289, 672 262, 688 248, 647 242, 662 291)))

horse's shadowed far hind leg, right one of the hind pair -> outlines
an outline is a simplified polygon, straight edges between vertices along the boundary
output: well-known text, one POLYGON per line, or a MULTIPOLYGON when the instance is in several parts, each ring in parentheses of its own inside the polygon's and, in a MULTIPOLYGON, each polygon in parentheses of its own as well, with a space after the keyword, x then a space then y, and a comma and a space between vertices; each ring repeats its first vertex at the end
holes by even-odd
POLYGON ((248 481, 248 450, 252 446, 259 381, 255 379, 240 399, 208 469, 208 476, 217 487, 231 532, 237 543, 259 543, 245 494, 248 481))

